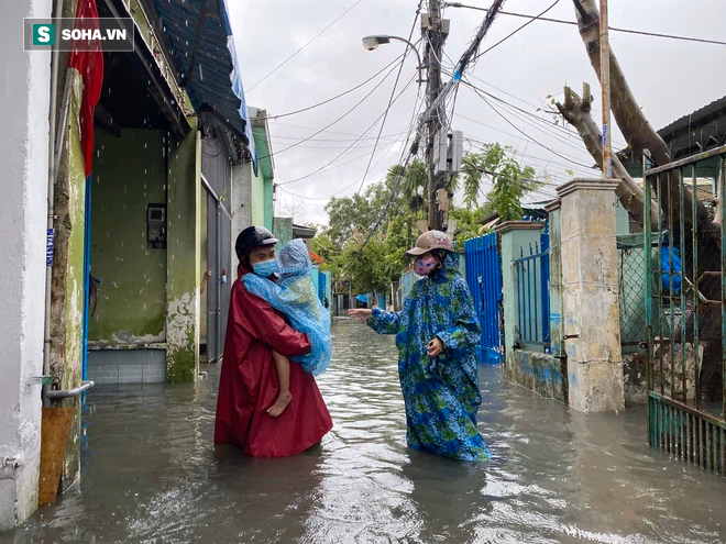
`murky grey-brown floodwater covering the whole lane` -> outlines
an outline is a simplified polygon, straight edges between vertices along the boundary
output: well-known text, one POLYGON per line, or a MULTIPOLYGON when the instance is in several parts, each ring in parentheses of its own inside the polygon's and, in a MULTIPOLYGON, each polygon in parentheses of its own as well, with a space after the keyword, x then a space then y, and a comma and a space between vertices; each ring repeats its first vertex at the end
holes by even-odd
POLYGON ((641 408, 584 415, 481 367, 494 459, 406 448, 396 349, 346 320, 319 380, 336 428, 285 459, 216 452, 219 369, 88 395, 81 492, 1 543, 721 542, 726 480, 648 447, 641 408))

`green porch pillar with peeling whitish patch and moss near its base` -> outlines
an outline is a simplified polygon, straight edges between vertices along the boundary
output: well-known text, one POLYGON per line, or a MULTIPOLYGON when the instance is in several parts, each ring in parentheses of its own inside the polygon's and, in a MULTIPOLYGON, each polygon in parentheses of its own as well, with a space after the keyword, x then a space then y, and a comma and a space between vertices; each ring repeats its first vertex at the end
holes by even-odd
POLYGON ((197 121, 184 140, 172 138, 168 157, 166 244, 166 379, 199 374, 201 271, 201 137, 197 121))

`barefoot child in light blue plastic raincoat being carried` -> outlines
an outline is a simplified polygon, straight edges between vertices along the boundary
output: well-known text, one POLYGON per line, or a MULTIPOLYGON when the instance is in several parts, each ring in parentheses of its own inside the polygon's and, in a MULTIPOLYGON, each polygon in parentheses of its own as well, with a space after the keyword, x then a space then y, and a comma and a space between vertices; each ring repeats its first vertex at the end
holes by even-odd
MULTIPOLYGON (((254 274, 244 276, 244 287, 252 295, 266 300, 275 310, 283 312, 293 329, 306 333, 310 337, 310 353, 294 357, 302 369, 315 376, 323 373, 330 365, 332 343, 330 338, 330 312, 320 302, 310 278, 310 254, 305 242, 293 240, 279 252, 277 257, 277 284, 261 278, 254 274)), ((276 418, 292 400, 290 395, 290 362, 273 352, 279 395, 277 401, 267 413, 276 418)))

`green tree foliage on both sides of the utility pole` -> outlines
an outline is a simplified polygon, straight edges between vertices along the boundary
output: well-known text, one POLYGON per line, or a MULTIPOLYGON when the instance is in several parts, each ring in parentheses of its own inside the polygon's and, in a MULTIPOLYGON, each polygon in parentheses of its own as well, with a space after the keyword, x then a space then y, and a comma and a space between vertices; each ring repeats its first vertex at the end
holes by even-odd
MULTIPOLYGON (((512 148, 491 144, 464 156, 461 174, 449 186, 457 193, 449 219, 457 221, 454 241, 460 249, 465 240, 482 234, 480 222, 486 215, 521 219, 521 198, 537 182, 535 170, 520 167, 513 155, 512 148), (485 181, 490 191, 484 190, 485 181), (462 199, 464 206, 455 207, 462 199)), ((405 252, 418 236, 416 223, 426 219, 427 179, 425 163, 416 158, 407 168, 391 167, 386 179, 364 195, 331 199, 326 207, 328 226, 314 240, 314 249, 326 259, 322 269, 355 292, 387 290, 408 263, 405 252)))

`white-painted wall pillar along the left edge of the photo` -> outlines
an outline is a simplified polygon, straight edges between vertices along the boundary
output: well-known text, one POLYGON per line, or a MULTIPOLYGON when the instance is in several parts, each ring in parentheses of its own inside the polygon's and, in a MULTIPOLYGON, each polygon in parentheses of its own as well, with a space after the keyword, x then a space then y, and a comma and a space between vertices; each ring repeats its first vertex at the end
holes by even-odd
POLYGON ((0 18, 0 531, 37 508, 51 53, 23 52, 22 21, 50 16, 51 0, 6 0, 0 18))

